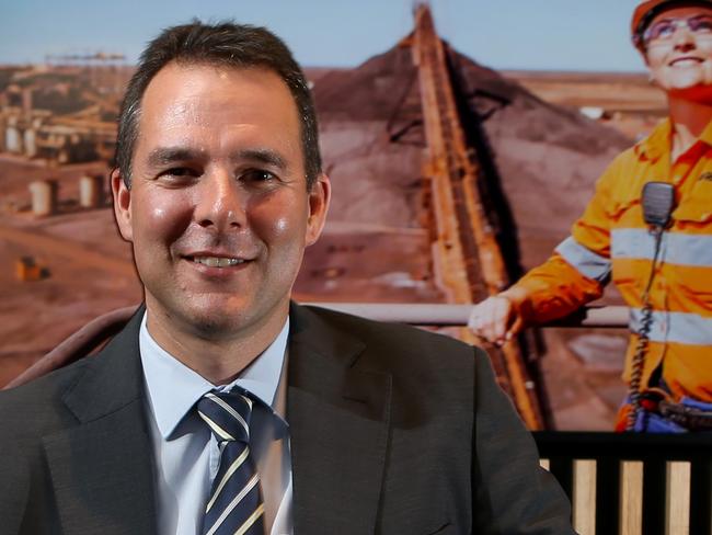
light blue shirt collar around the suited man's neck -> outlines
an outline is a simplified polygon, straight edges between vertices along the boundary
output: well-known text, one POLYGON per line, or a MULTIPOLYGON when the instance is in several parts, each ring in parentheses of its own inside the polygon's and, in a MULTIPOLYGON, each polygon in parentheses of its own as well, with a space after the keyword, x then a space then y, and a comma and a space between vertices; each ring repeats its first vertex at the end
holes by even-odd
POLYGON ((209 390, 229 390, 237 385, 274 408, 287 349, 289 318, 274 342, 236 380, 216 387, 153 340, 146 326, 147 316, 148 311, 141 320, 139 349, 150 409, 164 440, 169 439, 185 414, 209 390))

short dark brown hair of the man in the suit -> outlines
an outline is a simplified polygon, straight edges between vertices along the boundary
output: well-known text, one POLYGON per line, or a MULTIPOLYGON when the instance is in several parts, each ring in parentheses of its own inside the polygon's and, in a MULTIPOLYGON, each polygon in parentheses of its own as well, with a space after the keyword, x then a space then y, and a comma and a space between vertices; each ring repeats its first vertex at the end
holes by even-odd
POLYGON ((301 68, 279 37, 264 27, 233 22, 215 25, 194 21, 164 30, 141 54, 126 89, 118 116, 116 167, 130 187, 131 162, 138 139, 141 99, 153 77, 169 62, 234 68, 261 67, 276 72, 289 88, 301 122, 307 187, 321 172, 317 112, 301 68))

